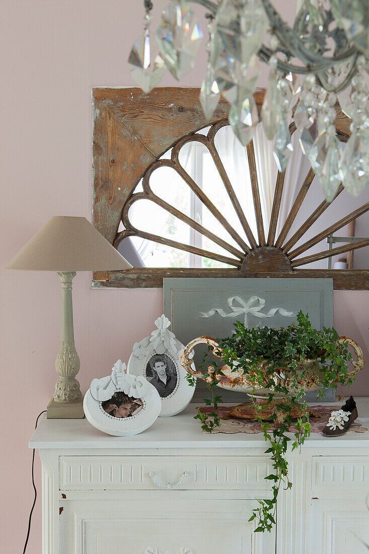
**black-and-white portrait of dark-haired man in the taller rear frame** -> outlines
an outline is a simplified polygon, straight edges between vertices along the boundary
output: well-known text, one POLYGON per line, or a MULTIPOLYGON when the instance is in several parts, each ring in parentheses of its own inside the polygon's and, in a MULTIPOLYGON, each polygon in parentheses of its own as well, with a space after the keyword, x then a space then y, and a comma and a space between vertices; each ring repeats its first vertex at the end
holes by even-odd
POLYGON ((146 365, 146 379, 156 388, 161 398, 170 396, 177 386, 177 368, 166 354, 151 356, 146 365))

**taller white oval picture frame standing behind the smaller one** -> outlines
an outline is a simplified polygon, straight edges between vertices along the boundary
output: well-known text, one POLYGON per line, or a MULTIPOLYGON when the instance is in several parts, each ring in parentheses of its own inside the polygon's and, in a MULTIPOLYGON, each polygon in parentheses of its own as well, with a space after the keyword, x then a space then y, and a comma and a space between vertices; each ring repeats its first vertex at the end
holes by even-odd
POLYGON ((150 337, 136 342, 128 361, 129 375, 145 377, 160 394, 162 408, 160 417, 170 417, 182 412, 191 402, 195 387, 187 381, 186 370, 181 365, 184 346, 169 331, 171 322, 165 315, 155 321, 157 329, 150 337), (166 382, 161 381, 157 371, 165 366, 166 382))

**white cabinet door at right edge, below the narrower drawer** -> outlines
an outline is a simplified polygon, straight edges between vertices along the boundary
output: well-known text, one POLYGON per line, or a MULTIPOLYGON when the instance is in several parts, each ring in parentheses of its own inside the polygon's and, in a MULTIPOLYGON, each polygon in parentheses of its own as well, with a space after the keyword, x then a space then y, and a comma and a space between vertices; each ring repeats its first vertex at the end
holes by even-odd
POLYGON ((364 500, 312 500, 312 529, 312 552, 368 554, 369 511, 364 500))

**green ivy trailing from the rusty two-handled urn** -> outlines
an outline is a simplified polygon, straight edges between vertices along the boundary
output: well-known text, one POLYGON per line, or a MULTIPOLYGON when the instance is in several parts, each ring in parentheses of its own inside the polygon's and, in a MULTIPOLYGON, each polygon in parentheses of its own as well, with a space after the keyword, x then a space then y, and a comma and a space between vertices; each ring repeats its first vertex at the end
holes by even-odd
MULTIPOLYGON (((300 448, 307 437, 310 436, 309 412, 306 402, 300 404, 300 417, 294 424, 296 432, 291 438, 289 427, 291 425, 291 412, 296 403, 301 401, 305 395, 303 386, 301 386, 301 376, 304 376, 305 370, 301 362, 306 359, 317 360, 321 363, 321 370, 318 376, 320 391, 318 398, 324 397, 327 388, 337 388, 339 384, 349 385, 353 378, 349 377, 347 363, 352 359, 351 352, 347 348, 347 342, 337 342, 339 335, 335 329, 326 328, 317 331, 311 324, 308 314, 299 312, 297 322, 288 327, 280 329, 270 329, 269 327, 254 327, 247 329, 245 325, 237 321, 234 334, 230 337, 218 338, 219 350, 222 351, 221 360, 232 371, 243 372, 247 375, 249 381, 257 387, 269 389, 268 404, 273 407, 271 417, 264 421, 261 415, 257 420, 262 423, 264 439, 269 443, 269 448, 265 453, 270 454, 273 473, 267 475, 265 479, 272 483, 272 497, 270 500, 258 500, 259 506, 253 511, 249 521, 257 520, 256 532, 270 531, 275 525, 276 501, 281 486, 286 489, 292 488, 292 483, 288 477, 288 462, 286 453, 288 443, 292 440, 291 450, 300 448), (237 362, 234 365, 234 362, 237 362), (263 362, 263 363, 262 363, 263 362), (285 367, 287 369, 289 388, 283 380, 275 383, 273 375, 277 368, 285 367), (278 413, 284 413, 284 421, 277 422, 278 413)), ((219 358, 218 358, 219 359, 219 358)), ((202 413, 197 408, 195 419, 201 421, 202 429, 211 433, 214 428, 219 426, 220 417, 218 414, 218 405, 222 402, 221 397, 214 394, 214 387, 217 385, 217 375, 222 375, 222 365, 212 361, 212 355, 206 352, 203 358, 201 368, 207 363, 207 373, 205 377, 210 377, 208 383, 211 398, 204 400, 206 406, 212 406, 211 413, 202 413), (212 365, 211 365, 212 364, 212 365), (211 371, 209 368, 211 367, 211 371)), ((187 378, 191 381, 191 376, 187 378)), ((253 399, 256 412, 261 412, 262 407, 253 399)))

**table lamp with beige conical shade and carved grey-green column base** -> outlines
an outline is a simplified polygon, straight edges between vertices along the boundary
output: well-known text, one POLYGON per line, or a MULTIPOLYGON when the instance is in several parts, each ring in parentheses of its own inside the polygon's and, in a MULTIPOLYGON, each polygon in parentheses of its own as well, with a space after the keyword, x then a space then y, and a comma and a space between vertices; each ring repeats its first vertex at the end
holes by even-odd
POLYGON ((76 271, 131 269, 85 217, 55 216, 12 258, 6 269, 57 271, 61 281, 59 381, 48 404, 48 418, 83 418, 83 398, 75 378, 80 366, 74 346, 72 279, 76 271))

